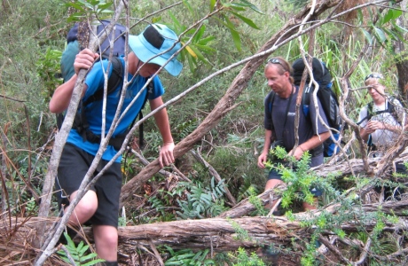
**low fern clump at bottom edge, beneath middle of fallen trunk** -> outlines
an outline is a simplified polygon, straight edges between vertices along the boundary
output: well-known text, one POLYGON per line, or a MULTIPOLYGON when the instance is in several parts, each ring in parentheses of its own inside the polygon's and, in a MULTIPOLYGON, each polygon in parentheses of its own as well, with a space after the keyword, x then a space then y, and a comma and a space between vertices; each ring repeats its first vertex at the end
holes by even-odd
POLYGON ((207 266, 215 265, 212 259, 208 259, 209 250, 201 250, 197 253, 192 252, 191 249, 182 249, 175 252, 171 247, 165 246, 169 251, 170 257, 166 262, 165 266, 170 265, 191 265, 191 266, 207 266))

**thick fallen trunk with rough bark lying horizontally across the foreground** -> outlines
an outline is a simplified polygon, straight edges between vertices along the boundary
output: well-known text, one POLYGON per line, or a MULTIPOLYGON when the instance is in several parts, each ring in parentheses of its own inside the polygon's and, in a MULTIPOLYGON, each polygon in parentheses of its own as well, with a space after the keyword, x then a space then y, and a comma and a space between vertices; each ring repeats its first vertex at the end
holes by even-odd
MULTIPOLYGON (((364 205, 358 208, 365 213, 378 211, 379 204, 364 205)), ((404 209, 408 207, 408 200, 397 202, 386 202, 381 205, 385 214, 406 216, 404 209)), ((336 215, 339 206, 332 206, 326 209, 336 215)), ((319 215, 320 212, 299 213, 296 217, 305 218, 312 215, 319 215)), ((359 231, 363 224, 350 221, 341 224, 343 231, 359 231)), ((366 231, 372 231, 375 221, 364 224, 366 231)), ((387 223, 384 231, 397 231, 396 224, 387 223)), ((266 243, 277 245, 287 245, 291 239, 310 238, 313 231, 311 228, 301 226, 298 221, 290 222, 286 217, 242 217, 237 219, 210 218, 201 220, 184 220, 168 223, 150 223, 137 226, 126 226, 119 228, 119 242, 121 245, 169 245, 175 249, 191 248, 192 250, 202 250, 211 248, 216 252, 236 250, 239 246, 253 248, 266 243)), ((91 238, 90 229, 86 229, 87 238, 91 238)), ((326 232, 324 235, 330 235, 326 232)))

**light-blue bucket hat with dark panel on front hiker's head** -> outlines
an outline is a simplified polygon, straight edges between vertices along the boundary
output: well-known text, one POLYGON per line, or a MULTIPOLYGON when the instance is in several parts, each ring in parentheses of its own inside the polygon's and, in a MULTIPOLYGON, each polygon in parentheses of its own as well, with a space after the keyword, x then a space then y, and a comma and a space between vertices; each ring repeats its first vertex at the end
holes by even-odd
MULTIPOLYGON (((129 35, 130 49, 136 54, 137 58, 143 62, 164 66, 169 58, 181 48, 177 43, 178 36, 169 27, 161 24, 152 24, 145 27, 140 35, 129 35), (177 43, 176 45, 174 45, 177 43), (172 47, 169 50, 170 47, 172 47), (158 54, 165 53, 157 56, 158 54)), ((164 69, 171 75, 180 74, 183 65, 177 61, 176 57, 171 59, 164 66, 164 69)))

